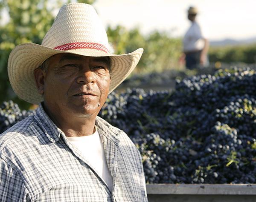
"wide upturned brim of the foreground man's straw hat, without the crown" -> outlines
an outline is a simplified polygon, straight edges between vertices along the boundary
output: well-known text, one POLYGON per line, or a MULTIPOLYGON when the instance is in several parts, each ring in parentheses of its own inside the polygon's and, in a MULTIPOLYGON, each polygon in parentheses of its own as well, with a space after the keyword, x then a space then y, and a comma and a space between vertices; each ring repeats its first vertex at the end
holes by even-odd
POLYGON ((47 58, 59 53, 91 57, 109 56, 111 59, 109 93, 111 93, 134 70, 143 53, 143 48, 138 48, 128 54, 115 55, 88 48, 60 51, 35 43, 20 44, 12 50, 8 59, 9 81, 18 97, 32 104, 39 104, 43 101, 43 96, 39 94, 35 83, 34 70, 47 58))

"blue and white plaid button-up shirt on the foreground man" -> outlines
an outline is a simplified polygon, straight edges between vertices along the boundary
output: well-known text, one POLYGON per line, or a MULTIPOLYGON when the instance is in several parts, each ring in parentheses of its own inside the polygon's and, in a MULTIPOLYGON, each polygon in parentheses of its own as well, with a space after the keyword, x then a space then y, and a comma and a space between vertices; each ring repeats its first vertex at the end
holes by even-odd
POLYGON ((0 201, 147 201, 135 145, 100 117, 96 126, 113 176, 113 190, 40 105, 34 116, 0 135, 0 201))

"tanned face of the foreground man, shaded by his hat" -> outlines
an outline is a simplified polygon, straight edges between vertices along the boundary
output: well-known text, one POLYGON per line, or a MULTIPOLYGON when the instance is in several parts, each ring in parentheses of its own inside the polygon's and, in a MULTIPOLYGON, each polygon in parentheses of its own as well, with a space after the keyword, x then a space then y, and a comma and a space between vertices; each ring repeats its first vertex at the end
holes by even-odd
POLYGON ((75 54, 50 57, 47 71, 42 71, 44 78, 35 76, 43 85, 40 93, 44 94, 47 110, 70 118, 96 117, 108 97, 109 68, 108 57, 75 54))

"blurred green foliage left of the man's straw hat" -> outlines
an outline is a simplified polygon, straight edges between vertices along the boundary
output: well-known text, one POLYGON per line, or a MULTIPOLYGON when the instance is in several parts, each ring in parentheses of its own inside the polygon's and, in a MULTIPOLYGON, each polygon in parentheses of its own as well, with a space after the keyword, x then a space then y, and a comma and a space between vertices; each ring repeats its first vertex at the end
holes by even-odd
POLYGON ((13 99, 20 103, 8 80, 9 54, 20 43, 41 43, 53 22, 52 10, 55 7, 48 8, 48 0, 5 0, 2 3, 9 11, 10 20, 0 28, 0 102, 3 99, 13 99))

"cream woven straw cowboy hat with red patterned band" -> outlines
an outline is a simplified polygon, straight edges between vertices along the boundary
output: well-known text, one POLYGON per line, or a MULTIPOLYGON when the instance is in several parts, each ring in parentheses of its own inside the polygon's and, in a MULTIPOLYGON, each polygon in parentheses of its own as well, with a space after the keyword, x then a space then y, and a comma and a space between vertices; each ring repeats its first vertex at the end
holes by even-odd
POLYGON ((112 54, 105 28, 95 9, 85 3, 66 4, 58 12, 42 45, 24 43, 16 46, 10 53, 8 75, 18 97, 33 104, 43 101, 43 96, 38 93, 35 83, 34 70, 47 58, 59 53, 109 56, 111 92, 134 70, 143 48, 129 54, 112 54))

